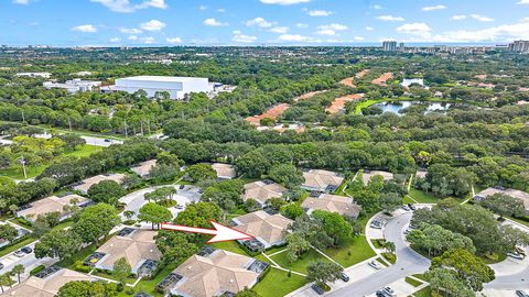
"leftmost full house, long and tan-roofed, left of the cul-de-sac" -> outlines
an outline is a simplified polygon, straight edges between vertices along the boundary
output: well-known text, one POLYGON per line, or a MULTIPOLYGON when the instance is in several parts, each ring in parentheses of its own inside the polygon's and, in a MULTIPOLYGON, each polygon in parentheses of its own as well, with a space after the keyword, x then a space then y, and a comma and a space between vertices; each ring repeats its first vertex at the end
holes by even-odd
POLYGON ((17 211, 17 217, 21 217, 30 222, 34 222, 40 215, 58 212, 61 213, 60 221, 63 221, 69 218, 72 215, 72 211, 68 209, 68 207, 74 205, 78 207, 85 207, 90 202, 90 199, 75 194, 64 197, 50 196, 21 207, 17 211))

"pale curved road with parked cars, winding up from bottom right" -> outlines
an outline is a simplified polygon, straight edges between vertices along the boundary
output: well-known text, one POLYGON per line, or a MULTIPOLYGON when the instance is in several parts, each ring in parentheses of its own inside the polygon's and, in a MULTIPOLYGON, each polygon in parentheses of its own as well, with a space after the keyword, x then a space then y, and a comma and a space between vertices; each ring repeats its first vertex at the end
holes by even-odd
POLYGON ((398 279, 428 271, 430 260, 415 253, 404 242, 402 232, 409 224, 412 212, 398 215, 391 218, 384 229, 386 240, 395 242, 396 245, 397 263, 395 265, 378 271, 369 277, 352 282, 348 286, 330 293, 328 296, 366 296, 398 279))

